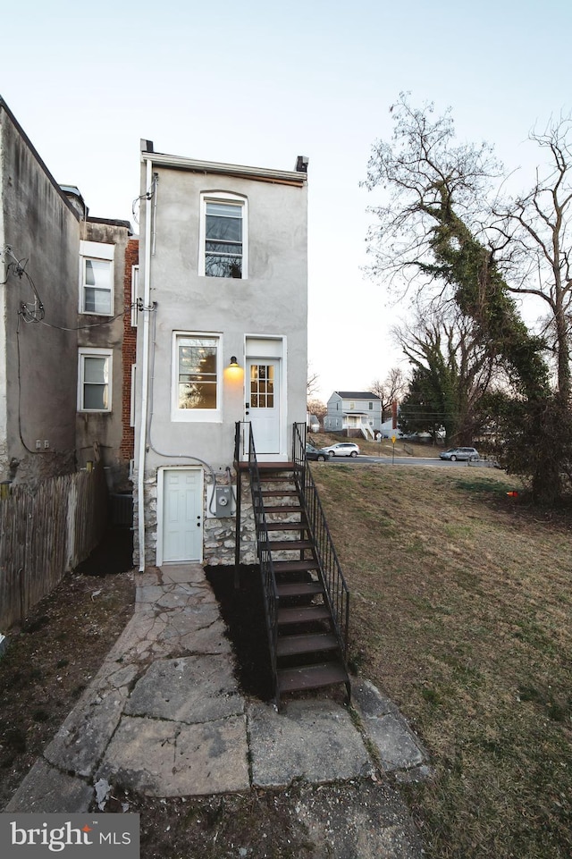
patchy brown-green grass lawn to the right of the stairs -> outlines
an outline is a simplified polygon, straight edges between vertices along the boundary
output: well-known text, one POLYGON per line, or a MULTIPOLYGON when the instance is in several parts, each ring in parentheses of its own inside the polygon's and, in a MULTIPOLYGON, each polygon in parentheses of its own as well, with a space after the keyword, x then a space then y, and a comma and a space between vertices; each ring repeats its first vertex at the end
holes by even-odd
POLYGON ((572 510, 479 467, 315 463, 352 592, 352 668, 435 779, 407 798, 433 857, 572 855, 572 510))

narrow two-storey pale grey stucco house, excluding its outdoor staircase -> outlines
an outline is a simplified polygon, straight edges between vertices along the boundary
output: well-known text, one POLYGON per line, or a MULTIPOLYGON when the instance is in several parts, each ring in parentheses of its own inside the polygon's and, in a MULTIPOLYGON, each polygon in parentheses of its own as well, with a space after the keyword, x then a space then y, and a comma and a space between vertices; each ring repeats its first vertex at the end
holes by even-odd
POLYGON ((136 557, 234 562, 237 424, 287 462, 306 423, 307 158, 197 161, 141 141, 136 557))

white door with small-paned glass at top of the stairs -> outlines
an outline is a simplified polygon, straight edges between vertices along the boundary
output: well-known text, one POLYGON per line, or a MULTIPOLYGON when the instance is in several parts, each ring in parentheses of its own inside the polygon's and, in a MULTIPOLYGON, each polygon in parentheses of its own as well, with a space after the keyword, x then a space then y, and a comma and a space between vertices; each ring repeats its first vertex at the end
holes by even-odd
POLYGON ((257 456, 280 453, 280 361, 248 358, 246 416, 257 456))

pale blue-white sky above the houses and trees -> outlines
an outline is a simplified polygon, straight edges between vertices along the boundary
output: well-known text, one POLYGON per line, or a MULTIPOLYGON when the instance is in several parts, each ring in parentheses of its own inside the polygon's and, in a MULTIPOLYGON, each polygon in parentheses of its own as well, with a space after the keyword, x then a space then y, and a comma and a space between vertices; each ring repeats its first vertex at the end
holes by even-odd
MULTIPOLYGON (((402 308, 366 273, 360 185, 401 91, 451 108, 523 189, 529 132, 572 109, 569 0, 27 0, 5 16, 0 95, 91 215, 130 220, 139 139, 229 164, 308 166, 308 361, 315 395, 368 390, 402 362, 402 308)), ((407 370, 407 365, 402 365, 407 370)))

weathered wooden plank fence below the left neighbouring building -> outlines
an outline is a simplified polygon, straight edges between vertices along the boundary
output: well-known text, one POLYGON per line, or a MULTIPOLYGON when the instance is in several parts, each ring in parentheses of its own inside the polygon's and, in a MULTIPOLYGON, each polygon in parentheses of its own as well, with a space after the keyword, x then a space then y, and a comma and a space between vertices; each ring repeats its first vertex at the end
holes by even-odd
POLYGON ((68 570, 97 546, 107 525, 103 467, 13 486, 0 501, 0 631, 21 623, 68 570))

